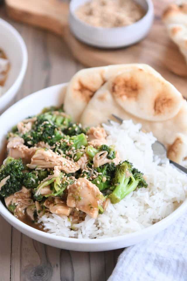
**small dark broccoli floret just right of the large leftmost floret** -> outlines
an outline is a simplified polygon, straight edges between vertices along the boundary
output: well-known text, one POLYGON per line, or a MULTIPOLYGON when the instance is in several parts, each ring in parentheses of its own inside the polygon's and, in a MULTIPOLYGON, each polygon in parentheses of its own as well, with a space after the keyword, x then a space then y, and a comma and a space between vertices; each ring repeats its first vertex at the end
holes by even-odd
POLYGON ((23 185, 26 188, 37 188, 38 181, 42 181, 48 176, 46 170, 37 170, 23 173, 23 185))

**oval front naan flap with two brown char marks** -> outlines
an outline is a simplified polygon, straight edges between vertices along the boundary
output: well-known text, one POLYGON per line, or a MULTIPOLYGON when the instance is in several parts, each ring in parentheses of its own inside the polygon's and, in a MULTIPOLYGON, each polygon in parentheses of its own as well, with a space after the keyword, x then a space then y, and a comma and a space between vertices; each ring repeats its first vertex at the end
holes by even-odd
POLYGON ((109 83, 116 102, 136 117, 165 121, 173 118, 181 108, 181 93, 162 76, 144 68, 127 68, 110 78, 109 83))

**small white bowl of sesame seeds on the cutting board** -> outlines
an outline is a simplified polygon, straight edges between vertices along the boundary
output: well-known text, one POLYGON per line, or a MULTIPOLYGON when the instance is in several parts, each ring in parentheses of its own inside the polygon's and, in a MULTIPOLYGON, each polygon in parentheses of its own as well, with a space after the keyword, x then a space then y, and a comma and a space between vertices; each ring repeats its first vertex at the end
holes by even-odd
POLYGON ((146 10, 145 16, 131 25, 116 28, 94 27, 80 20, 75 11, 85 2, 88 0, 71 0, 70 29, 77 39, 95 47, 120 48, 134 44, 147 35, 153 23, 152 0, 136 0, 146 10))

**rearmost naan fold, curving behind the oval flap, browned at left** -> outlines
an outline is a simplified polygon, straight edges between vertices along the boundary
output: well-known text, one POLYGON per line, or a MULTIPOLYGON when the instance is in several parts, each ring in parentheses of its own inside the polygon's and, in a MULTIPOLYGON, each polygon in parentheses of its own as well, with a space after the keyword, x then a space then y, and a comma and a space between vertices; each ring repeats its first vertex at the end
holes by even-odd
POLYGON ((161 75, 146 64, 120 64, 87 68, 78 71, 70 80, 65 96, 64 109, 74 121, 79 122, 82 112, 95 92, 111 76, 117 76, 126 69, 133 71, 137 68, 147 70, 157 77, 161 75))

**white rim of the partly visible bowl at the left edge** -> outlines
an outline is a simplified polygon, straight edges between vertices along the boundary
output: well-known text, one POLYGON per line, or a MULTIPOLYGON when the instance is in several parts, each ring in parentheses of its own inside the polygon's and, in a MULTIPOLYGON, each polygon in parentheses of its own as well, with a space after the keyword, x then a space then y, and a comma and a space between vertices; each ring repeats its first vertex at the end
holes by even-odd
MULTIPOLYGON (((26 47, 25 42, 24 42, 23 38, 21 37, 20 33, 10 23, 8 23, 6 20, 3 20, 2 18, 0 18, 0 25, 4 26, 10 30, 10 32, 13 34, 15 39, 18 41, 18 43, 20 45, 20 50, 22 52, 21 69, 19 71, 17 78, 14 80, 13 84, 11 85, 11 87, 4 94, 2 94, 0 96, 0 101, 3 102, 4 100, 7 99, 8 96, 11 95, 14 88, 16 88, 16 89, 19 88, 20 82, 24 78, 25 72, 27 70, 28 53, 27 53, 27 47, 26 47)), ((5 50, 5 52, 6 52, 6 50, 5 50)))

